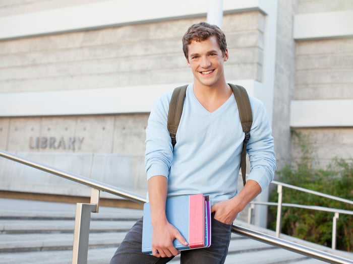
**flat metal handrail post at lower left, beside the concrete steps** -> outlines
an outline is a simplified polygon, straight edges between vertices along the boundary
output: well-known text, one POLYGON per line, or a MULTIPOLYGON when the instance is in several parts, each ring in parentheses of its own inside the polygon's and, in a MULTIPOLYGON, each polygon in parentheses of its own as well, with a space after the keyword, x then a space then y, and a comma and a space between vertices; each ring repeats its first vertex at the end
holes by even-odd
POLYGON ((77 203, 75 216, 74 243, 72 264, 86 264, 88 256, 89 227, 91 213, 97 213, 99 207, 99 190, 91 189, 91 203, 77 203))

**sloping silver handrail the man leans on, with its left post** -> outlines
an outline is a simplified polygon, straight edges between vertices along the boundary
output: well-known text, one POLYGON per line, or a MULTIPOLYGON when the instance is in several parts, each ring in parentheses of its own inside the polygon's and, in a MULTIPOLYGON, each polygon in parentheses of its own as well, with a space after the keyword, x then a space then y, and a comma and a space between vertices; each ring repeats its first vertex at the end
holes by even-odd
MULTIPOLYGON (((78 203, 77 205, 77 209, 76 209, 76 218, 75 218, 75 231, 74 231, 74 236, 78 236, 80 238, 83 238, 86 241, 85 242, 85 246, 84 247, 80 247, 79 245, 77 245, 77 255, 76 258, 74 259, 75 256, 75 252, 73 252, 73 263, 85 263, 87 262, 87 250, 88 250, 88 234, 89 234, 89 219, 90 219, 90 212, 97 212, 97 207, 98 207, 98 203, 99 203, 99 191, 105 191, 117 196, 121 196, 124 197, 128 200, 137 202, 137 203, 145 203, 146 199, 145 197, 141 196, 141 195, 137 195, 134 194, 132 192, 128 192, 125 191, 123 189, 120 188, 116 188, 114 186, 108 185, 108 184, 104 184, 102 182, 93 180, 93 179, 89 179, 86 177, 82 177, 73 173, 69 173, 69 172, 65 172, 65 171, 61 171, 46 165, 42 165, 40 163, 37 162, 33 162, 30 161, 28 159, 24 159, 21 158, 17 155, 11 154, 9 152, 0 150, 0 156, 13 160, 15 162, 19 162, 22 163, 24 165, 72 180, 72 181, 76 181, 78 183, 87 185, 89 187, 92 188, 92 194, 91 194, 91 202, 95 201, 96 204, 80 204, 78 203), (87 206, 87 208, 85 208, 85 206, 87 206), (80 211, 81 210, 81 211, 80 211), (86 210, 86 211, 85 211, 86 210), (87 210, 89 210, 89 214, 87 214, 87 210), (85 213, 86 212, 86 213, 85 213), (78 219, 78 215, 80 216, 80 219, 78 219), (82 217, 82 216, 86 216, 86 218, 82 217), (88 218, 88 224, 87 224, 87 220, 88 218), (84 221, 84 225, 81 225, 80 223, 78 223, 79 221, 84 221), (85 230, 77 230, 77 227, 85 227, 85 230), (80 252, 80 250, 84 250, 86 252, 80 252)), ((334 255, 334 254, 330 254, 327 253, 325 251, 321 251, 321 250, 317 250, 311 247, 307 247, 304 245, 299 245, 296 243, 292 243, 290 241, 281 239, 281 238, 277 238, 277 237, 272 237, 260 232, 256 232, 244 227, 240 227, 237 225, 232 225, 232 232, 233 233, 237 233, 246 237, 250 237, 253 238, 255 240, 273 245, 273 246, 277 246, 277 247, 281 247, 299 254, 303 254, 309 257, 313 257, 316 259, 320 259, 329 263, 339 263, 339 264, 348 264, 348 263, 353 263, 351 260, 338 256, 338 255, 334 255)), ((77 238, 78 241, 80 241, 80 238, 77 238)), ((75 237, 74 237, 74 248, 75 248, 75 237)))

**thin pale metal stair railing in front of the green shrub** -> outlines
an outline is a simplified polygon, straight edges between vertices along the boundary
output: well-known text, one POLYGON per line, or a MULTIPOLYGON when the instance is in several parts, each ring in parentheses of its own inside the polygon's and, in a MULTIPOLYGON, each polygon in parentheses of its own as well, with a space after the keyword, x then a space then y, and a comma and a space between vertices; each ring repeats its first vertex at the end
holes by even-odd
POLYGON ((276 237, 280 236, 281 233, 281 222, 282 222, 282 207, 296 207, 296 208, 301 208, 301 209, 308 209, 308 210, 316 210, 316 211, 322 211, 322 212, 330 212, 334 213, 333 218, 332 218, 332 249, 336 249, 336 239, 337 239, 337 220, 339 218, 339 214, 346 214, 346 215, 353 215, 353 211, 349 210, 342 210, 342 209, 337 209, 337 208, 328 208, 328 207, 320 207, 320 206, 308 206, 308 205, 298 205, 298 204, 288 204, 288 203, 283 203, 282 202, 282 196, 283 196, 283 187, 303 191, 306 193, 311 193, 314 195, 322 196, 331 200, 339 201, 342 203, 350 204, 353 205, 353 201, 343 199, 340 197, 336 197, 333 195, 329 195, 326 193, 298 187, 295 185, 279 182, 279 181, 272 181, 272 184, 277 185, 277 193, 278 193, 278 203, 271 203, 271 202, 257 202, 253 201, 250 203, 250 207, 248 210, 248 223, 251 223, 251 218, 252 218, 252 211, 255 209, 255 205, 262 205, 262 206, 277 206, 277 216, 276 216, 276 237))

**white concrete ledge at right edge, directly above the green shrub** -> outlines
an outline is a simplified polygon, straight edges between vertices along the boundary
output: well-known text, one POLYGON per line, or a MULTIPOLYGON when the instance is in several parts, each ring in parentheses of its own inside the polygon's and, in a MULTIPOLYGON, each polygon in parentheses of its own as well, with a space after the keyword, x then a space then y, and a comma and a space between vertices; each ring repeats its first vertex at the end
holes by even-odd
POLYGON ((353 126, 352 112, 353 99, 294 100, 290 103, 290 126, 353 126))

